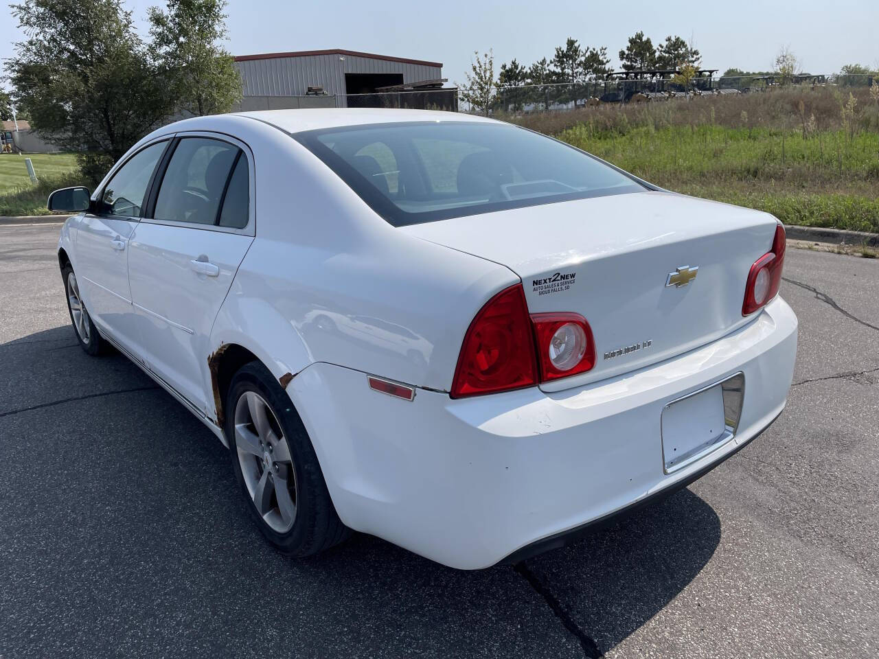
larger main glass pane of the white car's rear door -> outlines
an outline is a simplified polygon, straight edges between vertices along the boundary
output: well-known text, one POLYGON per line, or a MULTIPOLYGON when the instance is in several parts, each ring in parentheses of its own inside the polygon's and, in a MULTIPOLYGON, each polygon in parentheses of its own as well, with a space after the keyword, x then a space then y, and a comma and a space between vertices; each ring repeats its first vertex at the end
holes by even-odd
POLYGON ((180 140, 164 172, 153 217, 216 224, 240 152, 240 148, 225 141, 205 137, 180 140))

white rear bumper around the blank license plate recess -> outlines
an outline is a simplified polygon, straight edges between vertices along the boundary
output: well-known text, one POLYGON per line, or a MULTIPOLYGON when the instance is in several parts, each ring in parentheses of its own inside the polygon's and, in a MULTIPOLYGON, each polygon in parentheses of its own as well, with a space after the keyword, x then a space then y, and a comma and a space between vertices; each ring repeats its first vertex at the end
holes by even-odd
POLYGON ((558 547, 571 532, 694 481, 784 408, 796 317, 776 299, 730 335, 584 387, 536 387, 414 401, 367 387, 366 375, 309 366, 287 387, 346 525, 454 568, 484 568, 558 547), (736 434, 665 474, 665 405, 745 376, 736 434))

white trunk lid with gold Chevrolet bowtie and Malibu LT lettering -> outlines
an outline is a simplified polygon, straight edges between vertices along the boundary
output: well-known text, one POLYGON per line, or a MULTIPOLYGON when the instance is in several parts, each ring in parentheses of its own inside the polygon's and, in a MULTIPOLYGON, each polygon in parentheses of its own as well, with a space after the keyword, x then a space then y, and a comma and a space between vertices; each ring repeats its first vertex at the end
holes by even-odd
POLYGON ((549 391, 648 366, 748 322, 745 281, 775 226, 771 215, 737 206, 636 192, 401 230, 504 264, 522 279, 532 314, 585 316, 596 364, 544 383, 549 391))

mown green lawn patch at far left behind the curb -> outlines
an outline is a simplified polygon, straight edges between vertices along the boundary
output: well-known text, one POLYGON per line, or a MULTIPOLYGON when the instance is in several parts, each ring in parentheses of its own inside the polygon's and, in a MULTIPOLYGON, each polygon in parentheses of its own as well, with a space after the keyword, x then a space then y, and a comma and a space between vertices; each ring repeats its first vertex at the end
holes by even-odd
POLYGON ((49 192, 81 184, 76 154, 0 154, 0 216, 48 214, 49 192), (37 185, 27 176, 25 157, 33 163, 37 185))

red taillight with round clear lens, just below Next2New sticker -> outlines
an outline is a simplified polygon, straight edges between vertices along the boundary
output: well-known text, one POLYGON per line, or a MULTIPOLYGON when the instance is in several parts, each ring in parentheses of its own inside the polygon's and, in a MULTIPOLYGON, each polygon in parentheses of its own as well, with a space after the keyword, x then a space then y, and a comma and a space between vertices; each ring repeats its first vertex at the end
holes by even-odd
POLYGON ((595 366, 592 329, 579 314, 533 314, 541 382, 585 373, 595 366))

